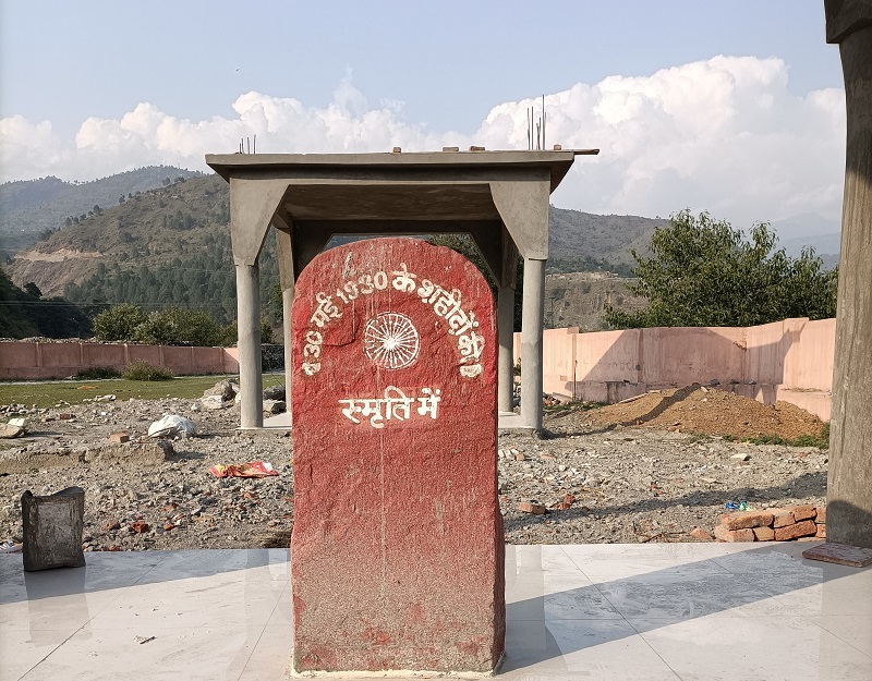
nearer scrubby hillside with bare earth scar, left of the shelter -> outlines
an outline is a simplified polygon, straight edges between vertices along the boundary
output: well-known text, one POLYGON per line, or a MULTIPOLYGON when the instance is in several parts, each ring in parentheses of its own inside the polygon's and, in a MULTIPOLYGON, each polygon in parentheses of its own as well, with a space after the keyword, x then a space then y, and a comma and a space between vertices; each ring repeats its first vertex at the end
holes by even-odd
MULTIPOLYGON (((20 253, 9 271, 14 281, 34 281, 80 304, 186 306, 226 324, 237 305, 229 222, 221 178, 175 181, 63 227, 20 253)), ((275 238, 267 240, 261 266, 268 307, 278 283, 275 238)))

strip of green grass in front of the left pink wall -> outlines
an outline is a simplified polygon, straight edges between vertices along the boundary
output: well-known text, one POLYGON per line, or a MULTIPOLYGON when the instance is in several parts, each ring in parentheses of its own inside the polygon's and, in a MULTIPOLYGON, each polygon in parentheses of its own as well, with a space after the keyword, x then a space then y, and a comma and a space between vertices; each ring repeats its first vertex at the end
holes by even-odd
MULTIPOLYGON (((169 380, 140 381, 110 378, 107 380, 52 380, 26 384, 0 384, 0 404, 25 404, 38 408, 59 402, 81 404, 98 394, 113 394, 118 400, 160 400, 164 398, 194 399, 219 380, 239 376, 180 376, 169 380)), ((264 388, 284 382, 284 374, 264 374, 264 388)))

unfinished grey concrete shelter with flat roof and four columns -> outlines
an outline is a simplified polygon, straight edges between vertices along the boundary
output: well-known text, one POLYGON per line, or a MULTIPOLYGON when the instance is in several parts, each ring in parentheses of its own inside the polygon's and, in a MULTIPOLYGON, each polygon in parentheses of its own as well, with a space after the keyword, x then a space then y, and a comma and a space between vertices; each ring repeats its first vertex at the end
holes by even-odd
MULTIPOLYGON (((263 426, 258 259, 276 229, 291 393, 291 303, 302 269, 342 235, 468 233, 497 282, 498 409, 512 410, 512 320, 523 258, 521 426, 542 428, 542 331, 548 197, 578 155, 598 149, 388 154, 223 154, 237 271, 241 427, 263 426), (532 332, 531 332, 532 331, 532 332)), ((291 415, 293 417, 293 415, 291 415)))

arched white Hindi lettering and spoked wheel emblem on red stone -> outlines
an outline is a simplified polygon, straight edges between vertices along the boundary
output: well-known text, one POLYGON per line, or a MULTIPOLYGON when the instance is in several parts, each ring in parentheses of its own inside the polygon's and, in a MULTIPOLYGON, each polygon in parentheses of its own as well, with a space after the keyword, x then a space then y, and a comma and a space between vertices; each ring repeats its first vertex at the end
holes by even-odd
MULTIPOLYGON (((310 329, 305 335, 303 344, 303 373, 314 376, 320 370, 322 344, 324 343, 323 329, 332 319, 342 317, 341 306, 349 304, 361 295, 371 295, 375 291, 392 288, 403 293, 417 295, 422 303, 432 306, 436 316, 448 324, 448 332, 457 337, 457 348, 460 353, 460 374, 467 378, 474 378, 482 373, 482 352, 484 351, 484 337, 475 331, 479 320, 471 309, 463 309, 463 299, 458 289, 447 289, 422 278, 420 284, 417 275, 410 272, 405 263, 400 263, 400 268, 388 275, 385 270, 361 275, 356 279, 349 279, 336 289, 335 295, 318 292, 315 296, 317 306, 310 317, 310 329)), ((385 313, 387 315, 393 313, 385 313)), ((395 314, 396 319, 386 325, 383 315, 380 320, 366 327, 364 338, 364 352, 378 366, 384 368, 403 368, 414 362, 417 356, 417 332, 414 327, 403 323, 409 318, 395 314), (412 333, 411 331, 414 331, 412 333), (390 338, 388 338, 390 336, 390 338), (390 348, 388 348, 388 345, 390 348)))

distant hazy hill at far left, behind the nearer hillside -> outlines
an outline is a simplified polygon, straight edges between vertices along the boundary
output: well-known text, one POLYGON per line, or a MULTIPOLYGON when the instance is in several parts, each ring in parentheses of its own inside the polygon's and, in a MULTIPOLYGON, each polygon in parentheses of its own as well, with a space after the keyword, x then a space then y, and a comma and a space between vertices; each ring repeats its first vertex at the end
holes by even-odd
POLYGON ((87 219, 99 206, 117 206, 119 198, 171 183, 178 178, 202 175, 199 171, 170 166, 149 166, 93 182, 64 182, 40 178, 0 184, 0 259, 28 248, 68 218, 87 219))

